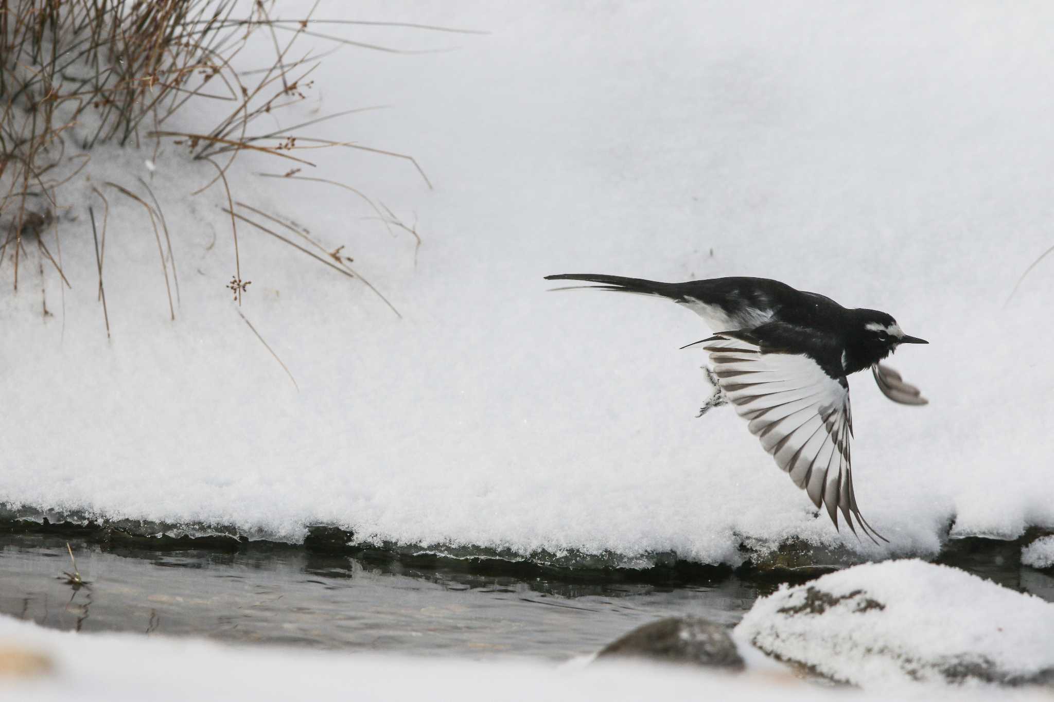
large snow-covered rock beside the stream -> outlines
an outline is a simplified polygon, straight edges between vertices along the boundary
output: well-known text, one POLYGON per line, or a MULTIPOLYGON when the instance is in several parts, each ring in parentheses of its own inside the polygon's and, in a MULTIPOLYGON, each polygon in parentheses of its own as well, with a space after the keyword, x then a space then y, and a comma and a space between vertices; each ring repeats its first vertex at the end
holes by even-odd
POLYGON ((1054 683, 1054 604, 919 560, 784 586, 758 600, 736 634, 863 686, 1054 683))

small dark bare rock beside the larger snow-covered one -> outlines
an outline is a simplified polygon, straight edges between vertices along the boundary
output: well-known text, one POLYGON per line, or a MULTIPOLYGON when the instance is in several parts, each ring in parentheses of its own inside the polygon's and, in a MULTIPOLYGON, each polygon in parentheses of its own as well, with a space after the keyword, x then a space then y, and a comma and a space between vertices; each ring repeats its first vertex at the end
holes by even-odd
POLYGON ((670 617, 639 626, 604 647, 597 659, 614 656, 743 669, 743 659, 728 629, 699 617, 670 617))

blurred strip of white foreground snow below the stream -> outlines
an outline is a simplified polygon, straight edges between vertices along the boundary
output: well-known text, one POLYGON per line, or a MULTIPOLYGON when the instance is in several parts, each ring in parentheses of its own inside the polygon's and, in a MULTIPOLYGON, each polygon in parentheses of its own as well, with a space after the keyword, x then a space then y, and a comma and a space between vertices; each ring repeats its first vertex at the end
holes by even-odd
MULTIPOLYGON (((0 696, 22 702, 139 700, 547 700, 736 699, 745 702, 887 699, 824 689, 786 674, 728 677, 686 666, 619 661, 561 667, 509 661, 414 659, 233 647, 133 635, 75 635, 0 617, 0 663, 8 651, 43 656, 53 671, 0 674, 0 696)), ((907 698, 910 699, 910 698, 907 698)), ((921 699, 921 698, 920 698, 921 699)), ((932 699, 932 698, 931 698, 932 699)), ((991 696, 956 699, 991 699, 991 696)), ((1000 699, 1046 699, 1007 691, 1000 699)))

